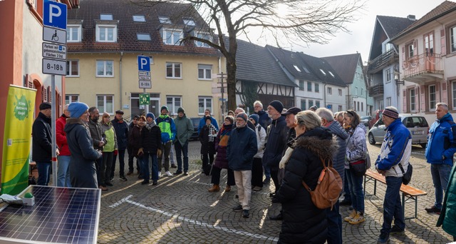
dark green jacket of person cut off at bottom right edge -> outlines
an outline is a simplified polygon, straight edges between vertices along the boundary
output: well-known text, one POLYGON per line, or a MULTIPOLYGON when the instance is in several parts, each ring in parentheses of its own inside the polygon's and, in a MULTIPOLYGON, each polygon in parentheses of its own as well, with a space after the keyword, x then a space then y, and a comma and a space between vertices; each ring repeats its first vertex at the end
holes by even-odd
POLYGON ((437 227, 441 225, 446 233, 456 236, 456 171, 453 166, 448 179, 447 191, 443 200, 442 212, 437 220, 437 227))

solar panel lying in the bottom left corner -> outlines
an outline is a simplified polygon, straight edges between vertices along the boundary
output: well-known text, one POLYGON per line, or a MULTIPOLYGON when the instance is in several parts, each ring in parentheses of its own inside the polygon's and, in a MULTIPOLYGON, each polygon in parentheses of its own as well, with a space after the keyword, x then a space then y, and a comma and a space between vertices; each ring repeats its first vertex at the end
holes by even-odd
POLYGON ((100 189, 29 185, 19 197, 25 193, 35 197, 35 205, 0 208, 0 242, 97 242, 100 189))

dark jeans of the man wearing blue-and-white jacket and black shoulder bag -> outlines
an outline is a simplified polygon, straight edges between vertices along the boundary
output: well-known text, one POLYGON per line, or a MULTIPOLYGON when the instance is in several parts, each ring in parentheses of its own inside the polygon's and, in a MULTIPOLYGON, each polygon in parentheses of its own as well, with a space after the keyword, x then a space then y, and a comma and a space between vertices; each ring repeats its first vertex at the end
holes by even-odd
POLYGON ((400 201, 400 185, 402 185, 402 177, 388 176, 386 177, 386 193, 383 200, 383 225, 380 233, 390 233, 391 223, 404 229, 404 213, 400 201))

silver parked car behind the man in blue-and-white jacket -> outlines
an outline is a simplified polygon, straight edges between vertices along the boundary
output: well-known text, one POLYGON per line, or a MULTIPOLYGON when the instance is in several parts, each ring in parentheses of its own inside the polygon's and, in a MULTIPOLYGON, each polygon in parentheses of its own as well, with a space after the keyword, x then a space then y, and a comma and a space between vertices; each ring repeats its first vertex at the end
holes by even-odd
MULTIPOLYGON (((415 114, 400 114, 400 120, 405 127, 408 128, 412 135, 412 144, 419 144, 421 147, 426 148, 427 134, 429 133, 429 125, 426 118, 415 114)), ((382 143, 385 137, 386 126, 380 118, 373 124, 368 133, 368 141, 372 145, 375 143, 382 143)))

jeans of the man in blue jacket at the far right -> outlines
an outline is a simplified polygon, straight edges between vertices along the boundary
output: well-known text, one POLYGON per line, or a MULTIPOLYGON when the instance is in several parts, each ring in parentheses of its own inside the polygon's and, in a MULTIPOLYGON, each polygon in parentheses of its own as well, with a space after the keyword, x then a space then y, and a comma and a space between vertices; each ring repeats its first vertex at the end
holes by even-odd
POLYGON ((451 166, 447 164, 431 164, 430 174, 435 188, 435 208, 442 209, 443 192, 447 191, 448 178, 450 178, 451 166))

